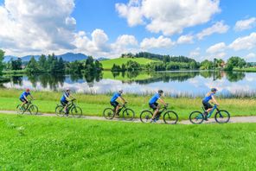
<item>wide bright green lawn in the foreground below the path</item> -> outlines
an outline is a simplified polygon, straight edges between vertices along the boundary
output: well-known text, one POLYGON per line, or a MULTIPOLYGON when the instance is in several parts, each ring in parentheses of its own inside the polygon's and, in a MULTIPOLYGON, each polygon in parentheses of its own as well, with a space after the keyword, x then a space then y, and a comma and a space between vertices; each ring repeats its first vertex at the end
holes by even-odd
POLYGON ((0 170, 253 170, 255 123, 0 115, 0 170))

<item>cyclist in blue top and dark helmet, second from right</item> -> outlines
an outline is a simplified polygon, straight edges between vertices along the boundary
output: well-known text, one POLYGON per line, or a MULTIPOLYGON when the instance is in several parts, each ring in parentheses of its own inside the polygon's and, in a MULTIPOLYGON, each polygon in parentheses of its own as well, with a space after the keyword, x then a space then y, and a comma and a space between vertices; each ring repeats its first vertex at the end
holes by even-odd
POLYGON ((156 123, 156 115, 160 109, 160 105, 157 104, 157 100, 159 99, 159 101, 166 105, 165 102, 163 101, 163 99, 161 98, 161 96, 163 96, 163 90, 158 90, 158 92, 152 97, 150 98, 150 108, 153 109, 154 113, 153 113, 153 117, 150 119, 150 123, 155 122, 156 123))

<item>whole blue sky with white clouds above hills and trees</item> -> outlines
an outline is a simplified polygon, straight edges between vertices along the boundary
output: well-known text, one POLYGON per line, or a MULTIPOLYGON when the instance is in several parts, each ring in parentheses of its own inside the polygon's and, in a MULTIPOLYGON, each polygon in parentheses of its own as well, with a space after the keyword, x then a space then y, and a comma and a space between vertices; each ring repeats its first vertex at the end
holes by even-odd
POLYGON ((255 0, 0 0, 6 55, 150 52, 256 61, 255 0))

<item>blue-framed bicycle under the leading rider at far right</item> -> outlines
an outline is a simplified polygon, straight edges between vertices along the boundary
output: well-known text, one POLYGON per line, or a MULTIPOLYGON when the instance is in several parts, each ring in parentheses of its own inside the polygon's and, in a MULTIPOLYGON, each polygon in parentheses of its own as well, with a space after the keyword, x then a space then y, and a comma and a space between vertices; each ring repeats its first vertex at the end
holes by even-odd
MULTIPOLYGON (((202 106, 203 112, 205 112, 204 107, 202 106)), ((214 111, 216 110, 216 113, 214 115, 214 119, 217 123, 228 123, 230 119, 230 114, 228 111, 225 110, 219 110, 217 105, 214 104, 213 110, 208 113, 208 116, 204 116, 201 111, 192 111, 189 115, 189 121, 194 124, 200 124, 202 123, 207 117, 211 117, 214 111)))

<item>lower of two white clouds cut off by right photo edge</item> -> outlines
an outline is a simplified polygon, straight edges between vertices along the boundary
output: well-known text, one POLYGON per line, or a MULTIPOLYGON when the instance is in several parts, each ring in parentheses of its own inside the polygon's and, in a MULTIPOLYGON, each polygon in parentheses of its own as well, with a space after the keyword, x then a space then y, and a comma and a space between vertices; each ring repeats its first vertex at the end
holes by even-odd
POLYGON ((229 48, 232 48, 235 51, 244 50, 244 49, 250 50, 255 47, 256 47, 256 32, 251 33, 251 35, 239 37, 229 45, 229 48))

